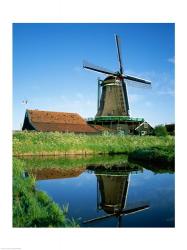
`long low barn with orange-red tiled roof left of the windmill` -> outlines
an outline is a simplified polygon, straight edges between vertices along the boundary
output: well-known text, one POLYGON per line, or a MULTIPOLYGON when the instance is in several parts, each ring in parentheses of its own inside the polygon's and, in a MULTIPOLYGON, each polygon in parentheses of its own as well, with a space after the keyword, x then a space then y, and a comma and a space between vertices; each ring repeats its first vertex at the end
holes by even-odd
POLYGON ((22 130, 92 134, 107 129, 87 124, 77 113, 26 110, 22 130))

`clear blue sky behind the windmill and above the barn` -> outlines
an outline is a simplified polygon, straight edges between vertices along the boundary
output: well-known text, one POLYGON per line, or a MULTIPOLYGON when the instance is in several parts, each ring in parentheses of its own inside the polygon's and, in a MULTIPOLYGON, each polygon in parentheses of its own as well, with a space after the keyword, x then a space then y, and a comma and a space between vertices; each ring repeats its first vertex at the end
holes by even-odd
POLYGON ((83 60, 118 70, 114 34, 121 39, 126 74, 152 81, 128 86, 130 115, 151 125, 174 122, 174 24, 13 24, 13 129, 25 109, 94 117, 97 77, 83 60), (28 100, 28 104, 22 104, 28 100))

